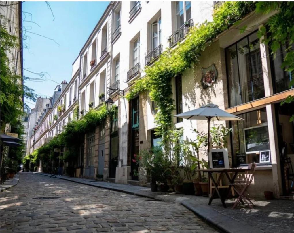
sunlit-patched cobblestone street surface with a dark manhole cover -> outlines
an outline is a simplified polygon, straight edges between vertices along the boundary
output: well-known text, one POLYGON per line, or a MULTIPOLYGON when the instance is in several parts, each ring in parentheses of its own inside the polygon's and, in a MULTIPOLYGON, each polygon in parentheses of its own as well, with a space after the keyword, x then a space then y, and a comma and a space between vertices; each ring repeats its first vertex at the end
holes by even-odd
POLYGON ((217 232, 176 203, 32 173, 1 193, 1 232, 68 231, 217 232))

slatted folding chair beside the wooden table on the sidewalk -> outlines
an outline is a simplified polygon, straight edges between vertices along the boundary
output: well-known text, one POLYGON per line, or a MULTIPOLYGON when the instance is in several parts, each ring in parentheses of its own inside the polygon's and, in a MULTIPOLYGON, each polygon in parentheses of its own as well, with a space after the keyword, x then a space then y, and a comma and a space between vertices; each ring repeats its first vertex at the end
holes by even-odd
POLYGON ((256 168, 256 163, 250 163, 248 165, 248 168, 250 169, 246 174, 244 180, 235 180, 235 183, 231 184, 235 192, 238 194, 238 198, 235 201, 233 205, 233 209, 240 203, 244 202, 247 203, 247 205, 250 207, 250 209, 253 209, 254 204, 249 199, 249 193, 247 191, 248 187, 252 183, 254 171, 256 168))

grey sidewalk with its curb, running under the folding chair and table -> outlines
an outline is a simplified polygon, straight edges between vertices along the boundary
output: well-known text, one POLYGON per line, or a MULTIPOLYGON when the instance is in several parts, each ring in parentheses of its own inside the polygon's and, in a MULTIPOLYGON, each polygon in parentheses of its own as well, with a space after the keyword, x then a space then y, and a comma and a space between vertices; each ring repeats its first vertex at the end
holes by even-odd
MULTIPOLYGON (((45 173, 37 173, 47 175, 45 173)), ((255 208, 246 206, 233 210, 233 200, 227 200, 224 208, 219 199, 208 205, 208 198, 175 193, 151 192, 150 188, 108 183, 84 178, 56 176, 56 178, 73 181, 98 188, 149 197, 156 200, 179 203, 203 220, 224 232, 289 232, 294 233, 294 202, 292 200, 256 200, 255 208)), ((54 179, 54 178, 52 178, 54 179)))

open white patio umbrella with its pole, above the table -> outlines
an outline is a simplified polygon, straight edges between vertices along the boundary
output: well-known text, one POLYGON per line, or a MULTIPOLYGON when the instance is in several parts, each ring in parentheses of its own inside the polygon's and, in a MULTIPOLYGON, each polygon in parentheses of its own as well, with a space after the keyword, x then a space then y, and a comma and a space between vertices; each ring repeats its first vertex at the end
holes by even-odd
POLYGON ((175 117, 184 118, 187 120, 207 120, 208 121, 208 155, 210 151, 210 121, 218 120, 218 121, 241 121, 244 120, 240 117, 237 117, 233 114, 225 112, 218 108, 216 104, 207 104, 201 106, 201 108, 194 109, 188 112, 183 112, 175 117))

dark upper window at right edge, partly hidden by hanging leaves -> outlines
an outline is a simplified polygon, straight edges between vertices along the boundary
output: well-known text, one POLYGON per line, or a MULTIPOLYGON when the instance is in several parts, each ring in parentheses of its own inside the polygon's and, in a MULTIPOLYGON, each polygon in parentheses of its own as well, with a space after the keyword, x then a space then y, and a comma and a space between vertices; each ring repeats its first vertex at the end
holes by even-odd
MULTIPOLYGON (((294 49, 294 44, 292 45, 294 49)), ((272 80, 274 93, 283 92, 289 89, 292 89, 293 86, 290 86, 290 81, 294 78, 293 72, 285 71, 285 68, 281 68, 286 55, 285 46, 281 46, 280 49, 276 52, 275 58, 271 56, 271 68, 272 68, 272 80)))

